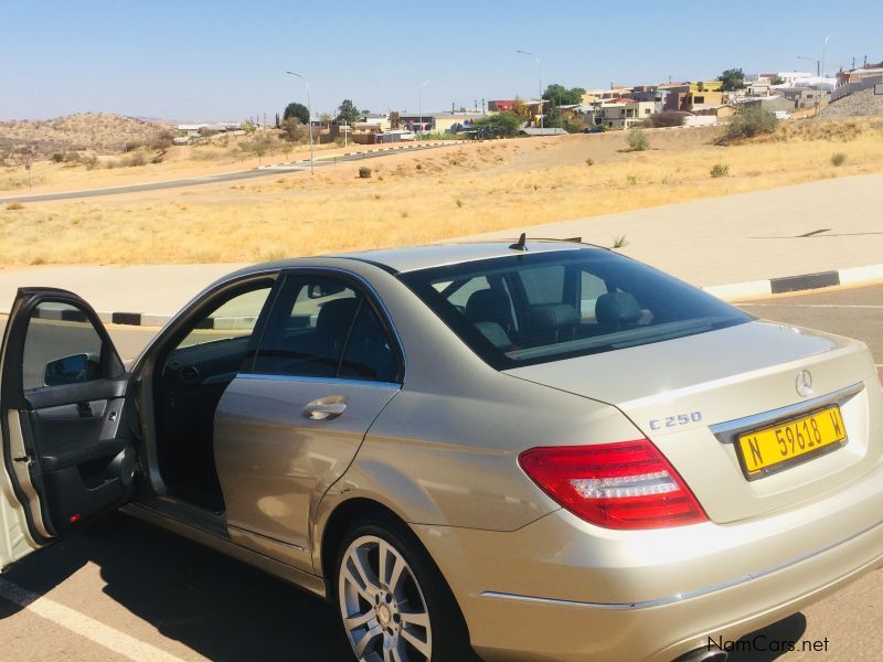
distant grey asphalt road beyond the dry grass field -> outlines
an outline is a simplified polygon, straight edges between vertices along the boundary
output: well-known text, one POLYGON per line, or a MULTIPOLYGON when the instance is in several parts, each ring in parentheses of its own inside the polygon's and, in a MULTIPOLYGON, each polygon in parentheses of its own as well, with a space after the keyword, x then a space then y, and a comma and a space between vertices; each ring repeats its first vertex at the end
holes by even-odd
MULTIPOLYGON (((447 147, 446 145, 417 145, 408 147, 409 150, 425 150, 437 149, 439 147, 447 147)), ((392 154, 402 153, 402 150, 391 150, 381 152, 353 152, 339 157, 320 157, 313 161, 316 168, 327 168, 338 163, 345 163, 348 161, 362 161, 364 159, 380 159, 382 157, 390 157, 392 154)), ((8 202, 49 202, 52 200, 75 200, 79 197, 100 197, 104 195, 121 195, 124 193, 138 193, 142 191, 160 191, 162 189, 181 189, 183 186, 199 186, 204 184, 217 184, 221 182, 233 182, 238 180, 254 179, 258 177, 278 177, 280 173, 286 172, 304 172, 309 170, 309 162, 298 161, 295 163, 281 163, 278 166, 268 166, 266 168, 254 168, 252 170, 242 170, 240 172, 226 172, 223 174, 210 174, 205 177, 190 177, 179 180, 167 180, 162 182, 148 182, 143 184, 130 184, 128 186, 109 186, 106 189, 86 189, 83 191, 62 191, 58 193, 38 193, 33 195, 11 195, 9 197, 0 197, 0 204, 8 202)))

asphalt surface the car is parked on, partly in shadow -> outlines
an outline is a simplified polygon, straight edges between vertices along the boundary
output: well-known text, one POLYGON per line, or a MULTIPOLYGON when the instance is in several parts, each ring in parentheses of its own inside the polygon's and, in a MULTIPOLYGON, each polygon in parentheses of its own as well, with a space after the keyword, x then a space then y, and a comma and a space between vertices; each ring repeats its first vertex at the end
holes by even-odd
MULTIPOLYGON (((864 340, 883 363, 883 286, 745 303, 760 317, 864 340)), ((143 330, 117 327, 130 351, 143 330)), ((179 536, 118 516, 33 554, 0 580, 8 660, 348 660, 331 607, 179 536), (10 599, 11 598, 11 599, 10 599), (28 605, 23 607, 22 605, 28 605)), ((735 662, 875 661, 883 654, 883 570, 744 639, 735 662), (778 641, 797 641, 781 653, 778 641), (825 650, 800 652, 802 641, 825 650)))

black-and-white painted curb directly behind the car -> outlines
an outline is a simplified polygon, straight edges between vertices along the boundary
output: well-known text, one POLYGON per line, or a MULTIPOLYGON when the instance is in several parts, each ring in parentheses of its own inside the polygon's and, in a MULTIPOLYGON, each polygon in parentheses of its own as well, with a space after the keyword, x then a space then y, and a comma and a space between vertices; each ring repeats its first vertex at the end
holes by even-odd
MULTIPOLYGON (((839 285, 870 285, 883 281, 883 264, 866 267, 852 267, 837 271, 817 271, 799 276, 784 276, 768 280, 747 280, 730 285, 711 285, 702 290, 723 299, 724 301, 740 301, 769 297, 786 292, 833 287, 839 285)), ((105 324, 123 324, 126 327, 163 327, 172 319, 171 314, 152 314, 146 312, 105 312, 99 311, 98 318, 105 324)), ((252 318, 217 318, 212 329, 235 329, 237 323, 254 323, 252 318)), ((206 327, 208 329, 208 327, 206 327)))

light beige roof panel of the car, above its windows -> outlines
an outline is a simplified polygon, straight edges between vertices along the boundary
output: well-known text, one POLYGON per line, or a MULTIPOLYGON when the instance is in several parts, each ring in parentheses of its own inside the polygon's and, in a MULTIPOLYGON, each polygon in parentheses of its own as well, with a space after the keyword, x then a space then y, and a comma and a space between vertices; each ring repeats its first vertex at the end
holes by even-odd
MULTIPOLYGON (((330 255, 319 255, 309 258, 290 258, 255 265, 247 270, 260 268, 288 268, 301 266, 309 260, 316 265, 317 261, 328 261, 329 266, 338 259, 353 259, 363 263, 377 265, 387 271, 402 274, 405 271, 416 271, 455 265, 465 261, 489 259, 493 257, 506 257, 520 255, 521 252, 511 248, 512 243, 518 239, 506 239, 500 242, 461 242, 446 244, 429 244, 425 246, 412 246, 405 248, 377 248, 373 250, 361 250, 353 253, 337 253, 330 255)), ((528 253, 553 253, 565 250, 603 250, 597 246, 579 244, 571 241, 554 239, 528 239, 525 243, 528 253)))

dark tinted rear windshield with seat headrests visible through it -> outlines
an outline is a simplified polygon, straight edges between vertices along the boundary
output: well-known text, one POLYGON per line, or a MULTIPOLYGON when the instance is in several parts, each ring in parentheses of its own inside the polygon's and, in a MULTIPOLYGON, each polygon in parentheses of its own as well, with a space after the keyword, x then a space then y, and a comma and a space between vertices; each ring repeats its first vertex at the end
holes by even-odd
POLYGON ((651 344, 753 319, 600 248, 524 253, 400 278, 497 370, 651 344))

